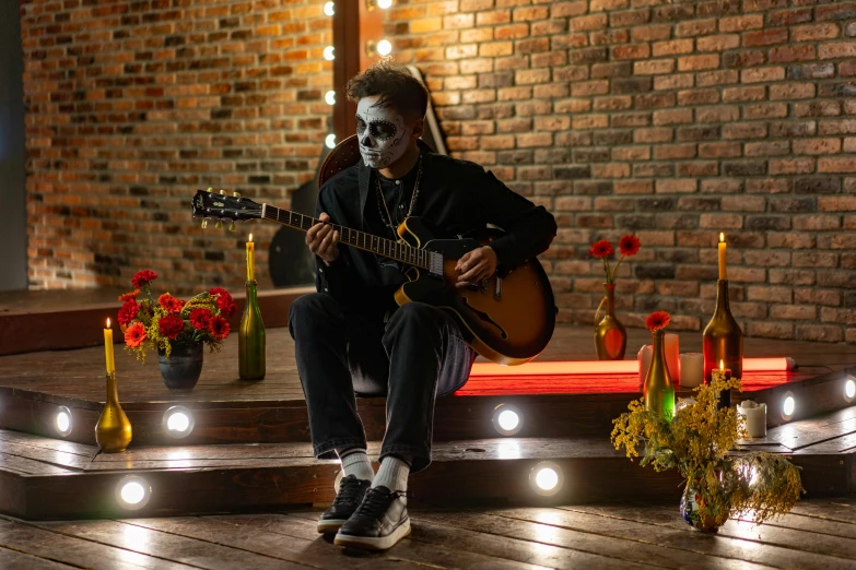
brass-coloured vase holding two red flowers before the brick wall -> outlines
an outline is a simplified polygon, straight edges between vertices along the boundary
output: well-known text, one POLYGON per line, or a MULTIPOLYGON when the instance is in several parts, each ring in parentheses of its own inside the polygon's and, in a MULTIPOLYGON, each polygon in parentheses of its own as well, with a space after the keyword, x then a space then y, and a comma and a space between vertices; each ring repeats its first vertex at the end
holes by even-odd
POLYGON ((615 252, 612 244, 606 239, 596 241, 589 256, 603 262, 603 272, 607 281, 603 283, 603 299, 595 313, 595 348, 599 360, 623 360, 624 352, 628 347, 628 333, 624 325, 615 317, 615 271, 624 258, 630 258, 638 253, 640 239, 636 236, 622 236, 619 240, 619 251, 621 258, 614 266, 610 266, 609 258, 615 252), (606 314, 600 319, 600 311, 606 308, 606 314))

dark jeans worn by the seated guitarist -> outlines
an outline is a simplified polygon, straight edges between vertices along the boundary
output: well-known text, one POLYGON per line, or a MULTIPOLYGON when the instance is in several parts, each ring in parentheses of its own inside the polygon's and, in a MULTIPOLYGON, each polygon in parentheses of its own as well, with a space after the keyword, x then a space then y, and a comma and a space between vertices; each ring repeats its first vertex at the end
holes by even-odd
POLYGON ((476 358, 450 314, 409 302, 384 323, 345 316, 333 297, 313 293, 292 304, 289 330, 318 459, 365 449, 355 392, 386 396, 380 458, 411 455, 414 473, 431 463, 434 400, 462 387, 476 358))

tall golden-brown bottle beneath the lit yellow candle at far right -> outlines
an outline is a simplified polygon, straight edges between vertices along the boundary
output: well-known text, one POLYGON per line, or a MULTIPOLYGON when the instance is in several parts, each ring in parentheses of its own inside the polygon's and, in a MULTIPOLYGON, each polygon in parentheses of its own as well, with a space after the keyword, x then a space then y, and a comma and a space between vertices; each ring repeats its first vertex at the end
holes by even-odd
POLYGON ((704 383, 710 384, 714 369, 723 361, 734 378, 743 377, 743 331, 731 316, 728 305, 728 281, 719 280, 716 310, 702 336, 704 354, 704 383))

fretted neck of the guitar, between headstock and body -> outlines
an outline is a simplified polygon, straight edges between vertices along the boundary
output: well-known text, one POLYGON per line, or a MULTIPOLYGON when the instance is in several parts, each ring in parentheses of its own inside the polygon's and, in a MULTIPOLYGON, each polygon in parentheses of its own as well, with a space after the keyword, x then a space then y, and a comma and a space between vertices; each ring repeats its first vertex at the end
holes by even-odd
MULTIPOLYGON (((281 210, 268 204, 262 204, 261 218, 270 219, 277 224, 293 227, 301 231, 308 231, 315 224, 320 223, 320 219, 315 217, 291 212, 289 210, 281 210)), ((429 252, 423 249, 366 234, 365 231, 357 231, 356 229, 339 226, 337 224, 330 225, 336 231, 339 231, 340 244, 362 249, 363 251, 371 251, 372 253, 394 259, 408 265, 414 265, 425 270, 430 269, 431 259, 429 252)))

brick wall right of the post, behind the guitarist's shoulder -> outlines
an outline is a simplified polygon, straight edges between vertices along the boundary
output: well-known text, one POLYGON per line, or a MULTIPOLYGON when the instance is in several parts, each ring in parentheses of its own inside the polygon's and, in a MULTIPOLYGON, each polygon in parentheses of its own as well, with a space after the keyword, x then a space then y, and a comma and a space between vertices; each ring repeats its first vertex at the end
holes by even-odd
POLYGON ((563 320, 600 300, 589 245, 634 231, 621 320, 703 328, 723 230, 748 334, 856 342, 856 2, 397 0, 385 27, 450 151, 559 217, 563 320))

